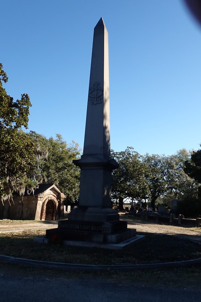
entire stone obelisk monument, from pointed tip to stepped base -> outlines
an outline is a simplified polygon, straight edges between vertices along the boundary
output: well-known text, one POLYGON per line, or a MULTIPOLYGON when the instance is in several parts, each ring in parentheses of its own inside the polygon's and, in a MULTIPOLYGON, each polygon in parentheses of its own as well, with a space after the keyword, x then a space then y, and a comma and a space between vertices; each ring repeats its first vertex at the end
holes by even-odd
MULTIPOLYGON (((84 148, 80 167, 79 205, 58 222, 65 244, 121 248, 142 236, 127 229, 127 222, 111 207, 111 172, 118 168, 110 157, 108 31, 103 19, 94 28, 84 148)), ((55 233, 56 232, 56 233, 55 233)))

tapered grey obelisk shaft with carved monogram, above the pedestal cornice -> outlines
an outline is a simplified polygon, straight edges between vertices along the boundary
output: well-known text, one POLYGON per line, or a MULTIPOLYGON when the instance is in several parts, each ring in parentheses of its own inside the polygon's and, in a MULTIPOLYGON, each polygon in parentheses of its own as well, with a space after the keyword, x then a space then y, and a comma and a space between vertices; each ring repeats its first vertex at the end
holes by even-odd
POLYGON ((108 31, 102 18, 94 28, 84 154, 110 156, 108 31))

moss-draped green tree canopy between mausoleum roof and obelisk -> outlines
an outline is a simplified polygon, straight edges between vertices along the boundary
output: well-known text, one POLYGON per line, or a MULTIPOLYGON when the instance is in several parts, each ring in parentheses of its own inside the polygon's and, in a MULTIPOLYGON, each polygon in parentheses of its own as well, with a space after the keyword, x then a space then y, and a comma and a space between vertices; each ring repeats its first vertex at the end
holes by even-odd
POLYGON ((30 178, 37 183, 55 183, 74 202, 79 197, 80 169, 72 161, 80 156, 80 146, 72 141, 67 144, 61 134, 47 139, 42 134, 30 131, 34 143, 36 162, 30 178))

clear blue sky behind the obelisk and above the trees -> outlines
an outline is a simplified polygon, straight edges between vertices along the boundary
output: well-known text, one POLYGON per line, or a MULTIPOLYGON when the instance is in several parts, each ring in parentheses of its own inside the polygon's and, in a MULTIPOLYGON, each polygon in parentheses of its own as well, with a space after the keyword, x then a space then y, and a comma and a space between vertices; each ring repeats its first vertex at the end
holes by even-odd
POLYGON ((201 26, 181 0, 7 0, 0 62, 29 130, 83 147, 93 28, 109 35, 111 148, 141 155, 199 149, 201 26))

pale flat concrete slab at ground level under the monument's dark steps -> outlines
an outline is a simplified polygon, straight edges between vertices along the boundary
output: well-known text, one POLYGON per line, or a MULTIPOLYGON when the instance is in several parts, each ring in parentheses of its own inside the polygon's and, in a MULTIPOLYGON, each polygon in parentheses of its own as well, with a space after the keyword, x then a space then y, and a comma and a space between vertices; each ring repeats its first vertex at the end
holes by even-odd
MULTIPOLYGON (((136 235, 133 238, 122 241, 121 243, 97 243, 97 242, 88 242, 88 241, 75 241, 75 240, 63 240, 63 245, 69 246, 84 246, 84 247, 98 247, 101 249, 128 249, 131 246, 135 245, 139 241, 145 239, 145 236, 136 235)), ((49 239, 46 237, 35 237, 33 242, 36 243, 49 243, 49 239)))

